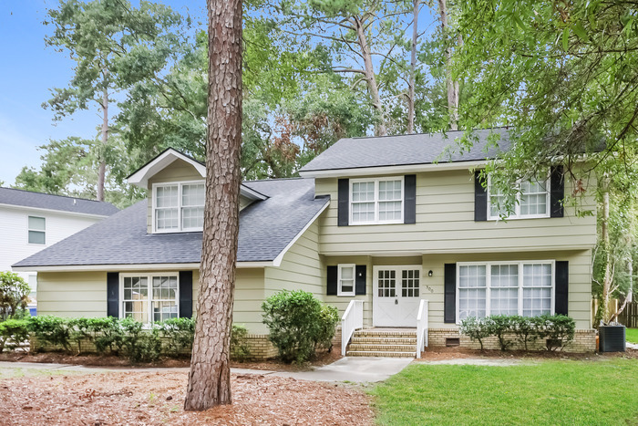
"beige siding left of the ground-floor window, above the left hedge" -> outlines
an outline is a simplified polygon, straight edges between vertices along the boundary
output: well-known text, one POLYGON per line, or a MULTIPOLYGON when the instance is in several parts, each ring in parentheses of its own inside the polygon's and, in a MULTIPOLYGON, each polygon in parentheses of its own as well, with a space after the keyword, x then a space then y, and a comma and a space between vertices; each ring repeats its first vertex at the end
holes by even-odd
POLYGON ((106 272, 40 272, 37 315, 106 317, 106 272))

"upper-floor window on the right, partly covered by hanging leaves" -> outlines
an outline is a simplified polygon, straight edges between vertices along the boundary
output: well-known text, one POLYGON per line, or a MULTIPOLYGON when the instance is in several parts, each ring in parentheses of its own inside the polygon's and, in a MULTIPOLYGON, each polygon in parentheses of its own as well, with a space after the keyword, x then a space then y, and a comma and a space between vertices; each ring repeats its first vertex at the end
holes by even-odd
MULTIPOLYGON (((514 212, 508 219, 531 219, 550 217, 550 179, 545 181, 517 182, 514 212)), ((506 214, 505 196, 503 192, 491 184, 488 176, 488 219, 499 220, 501 214, 506 214)))

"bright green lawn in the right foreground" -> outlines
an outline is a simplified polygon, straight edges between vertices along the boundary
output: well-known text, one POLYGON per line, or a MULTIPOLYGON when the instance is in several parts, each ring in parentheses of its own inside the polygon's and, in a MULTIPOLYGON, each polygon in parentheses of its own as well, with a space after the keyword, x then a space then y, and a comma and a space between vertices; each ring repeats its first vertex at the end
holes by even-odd
POLYGON ((413 364, 371 393, 387 425, 638 424, 638 360, 413 364))

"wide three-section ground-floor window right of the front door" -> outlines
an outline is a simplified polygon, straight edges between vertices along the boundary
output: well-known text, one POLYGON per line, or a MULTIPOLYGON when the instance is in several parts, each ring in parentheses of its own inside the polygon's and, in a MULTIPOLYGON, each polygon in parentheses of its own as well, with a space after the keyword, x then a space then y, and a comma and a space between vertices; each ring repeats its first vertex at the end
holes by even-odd
POLYGON ((554 313, 552 260, 457 264, 457 320, 554 313))

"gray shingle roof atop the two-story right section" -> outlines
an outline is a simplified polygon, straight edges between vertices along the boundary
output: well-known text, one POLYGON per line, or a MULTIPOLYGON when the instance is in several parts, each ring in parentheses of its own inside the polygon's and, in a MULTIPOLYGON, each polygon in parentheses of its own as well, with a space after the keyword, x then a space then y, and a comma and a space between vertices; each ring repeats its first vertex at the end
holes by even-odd
POLYGON ((463 131, 448 131, 447 134, 414 134, 382 136, 372 138, 342 139, 306 164, 301 171, 324 171, 358 169, 365 167, 431 164, 438 162, 479 161, 493 158, 497 149, 488 148, 488 136, 500 136, 499 151, 509 149, 509 130, 475 130, 477 140, 472 148, 461 150, 457 138, 463 131))

